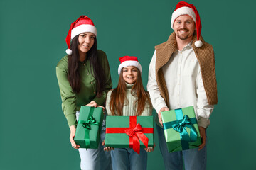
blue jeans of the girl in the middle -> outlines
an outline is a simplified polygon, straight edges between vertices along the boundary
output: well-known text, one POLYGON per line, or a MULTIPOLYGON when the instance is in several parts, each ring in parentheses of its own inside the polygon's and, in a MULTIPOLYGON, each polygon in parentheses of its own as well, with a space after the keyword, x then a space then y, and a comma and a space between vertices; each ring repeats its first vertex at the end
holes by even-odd
POLYGON ((114 148, 111 159, 113 170, 146 170, 147 153, 144 148, 139 154, 132 148, 114 148))

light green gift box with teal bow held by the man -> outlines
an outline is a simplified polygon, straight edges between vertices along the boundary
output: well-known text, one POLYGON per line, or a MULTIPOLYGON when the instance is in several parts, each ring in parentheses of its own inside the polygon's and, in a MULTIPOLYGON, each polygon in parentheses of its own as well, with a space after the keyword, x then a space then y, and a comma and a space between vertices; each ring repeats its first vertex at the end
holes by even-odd
POLYGON ((161 112, 161 118, 169 152, 192 149, 201 145, 193 106, 161 112))

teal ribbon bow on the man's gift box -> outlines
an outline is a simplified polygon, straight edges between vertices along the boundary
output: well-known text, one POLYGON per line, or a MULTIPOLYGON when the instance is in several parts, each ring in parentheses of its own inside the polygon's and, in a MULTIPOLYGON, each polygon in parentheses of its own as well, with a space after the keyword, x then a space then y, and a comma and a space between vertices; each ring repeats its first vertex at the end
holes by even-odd
POLYGON ((197 135, 196 129, 191 123, 191 120, 188 117, 188 115, 184 115, 180 123, 175 123, 171 126, 172 128, 174 128, 174 130, 181 133, 182 140, 185 140, 186 142, 195 142, 197 140, 198 135, 197 135), (188 132, 186 131, 186 127, 191 129, 190 135, 188 135, 188 132))

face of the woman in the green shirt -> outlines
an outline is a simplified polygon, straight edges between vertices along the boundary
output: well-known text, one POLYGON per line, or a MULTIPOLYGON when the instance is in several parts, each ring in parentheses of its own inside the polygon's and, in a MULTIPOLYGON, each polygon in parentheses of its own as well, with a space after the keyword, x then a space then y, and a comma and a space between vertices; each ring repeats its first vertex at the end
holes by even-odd
POLYGON ((94 33, 89 33, 89 32, 80 33, 80 35, 78 36, 78 42, 79 42, 78 50, 80 52, 87 53, 92 48, 92 45, 94 44, 94 40, 95 40, 94 33))

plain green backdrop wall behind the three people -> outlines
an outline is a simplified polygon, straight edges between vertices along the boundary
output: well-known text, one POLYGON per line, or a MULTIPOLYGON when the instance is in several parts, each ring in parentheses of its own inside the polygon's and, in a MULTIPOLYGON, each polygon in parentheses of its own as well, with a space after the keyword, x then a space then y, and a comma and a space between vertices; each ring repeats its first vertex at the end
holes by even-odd
MULTIPOLYGON (((119 57, 135 55, 146 87, 154 46, 172 33, 178 1, 0 1, 0 169, 79 169, 61 111, 55 66, 70 23, 87 15, 107 53, 114 86, 119 57)), ((208 128, 207 169, 256 169, 256 1, 188 1, 213 45, 218 105, 208 128)), ((148 169, 164 169, 157 135, 148 169)))

